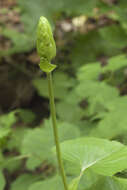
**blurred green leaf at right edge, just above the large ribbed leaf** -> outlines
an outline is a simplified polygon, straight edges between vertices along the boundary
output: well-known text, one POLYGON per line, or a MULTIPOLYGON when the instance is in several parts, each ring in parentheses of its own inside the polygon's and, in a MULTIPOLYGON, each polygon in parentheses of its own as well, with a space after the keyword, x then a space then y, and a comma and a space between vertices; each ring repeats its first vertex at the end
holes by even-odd
POLYGON ((127 131, 127 97, 118 97, 105 102, 109 112, 105 113, 97 127, 90 133, 91 136, 114 138, 127 131))

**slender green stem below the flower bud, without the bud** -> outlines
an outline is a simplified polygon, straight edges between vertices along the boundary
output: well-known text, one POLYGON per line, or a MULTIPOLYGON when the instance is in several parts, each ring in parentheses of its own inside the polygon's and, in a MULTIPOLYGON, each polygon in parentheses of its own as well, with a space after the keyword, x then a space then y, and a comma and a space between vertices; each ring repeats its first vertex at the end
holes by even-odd
POLYGON ((55 110, 55 101, 54 101, 54 93, 53 93, 52 74, 47 73, 47 78, 48 78, 48 88, 49 88, 50 110, 51 110, 51 116, 52 116, 52 124, 53 124, 53 131, 54 131, 54 138, 55 138, 55 144, 56 144, 56 153, 57 153, 57 159, 58 159, 58 164, 59 164, 59 170, 60 170, 61 177, 63 180, 64 189, 68 190, 66 175, 65 175, 65 171, 64 171, 64 167, 63 167, 62 158, 61 158, 57 123, 56 123, 56 110, 55 110))

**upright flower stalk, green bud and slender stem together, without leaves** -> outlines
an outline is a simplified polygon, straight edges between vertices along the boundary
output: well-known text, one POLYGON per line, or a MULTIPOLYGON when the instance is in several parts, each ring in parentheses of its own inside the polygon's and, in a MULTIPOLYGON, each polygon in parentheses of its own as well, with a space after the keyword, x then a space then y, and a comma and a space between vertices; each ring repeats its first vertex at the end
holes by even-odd
POLYGON ((37 28, 37 52, 40 56, 40 69, 47 74, 50 110, 52 116, 52 124, 54 131, 54 139, 56 144, 56 153, 59 164, 59 170, 64 184, 64 189, 68 190, 66 176, 64 172, 63 162, 61 158, 57 123, 56 123, 56 111, 53 93, 53 83, 51 72, 56 68, 56 65, 51 64, 51 60, 56 56, 56 44, 53 38, 53 33, 48 20, 45 17, 40 17, 37 28))

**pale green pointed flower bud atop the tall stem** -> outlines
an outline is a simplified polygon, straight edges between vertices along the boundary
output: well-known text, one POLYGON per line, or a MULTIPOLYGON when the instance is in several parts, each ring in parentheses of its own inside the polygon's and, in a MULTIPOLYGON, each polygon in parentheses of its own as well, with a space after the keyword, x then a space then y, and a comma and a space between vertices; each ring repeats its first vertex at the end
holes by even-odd
POLYGON ((56 65, 51 60, 56 56, 56 45, 48 20, 41 16, 37 27, 37 52, 40 56, 40 68, 44 72, 51 72, 56 65))

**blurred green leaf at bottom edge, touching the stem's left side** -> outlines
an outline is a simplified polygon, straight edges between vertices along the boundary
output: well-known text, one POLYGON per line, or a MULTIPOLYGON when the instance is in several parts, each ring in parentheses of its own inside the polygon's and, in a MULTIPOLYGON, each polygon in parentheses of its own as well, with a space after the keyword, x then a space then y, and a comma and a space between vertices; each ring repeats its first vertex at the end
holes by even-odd
POLYGON ((44 181, 39 181, 33 183, 28 190, 64 190, 63 183, 59 176, 55 176, 51 179, 46 179, 44 181))

